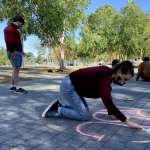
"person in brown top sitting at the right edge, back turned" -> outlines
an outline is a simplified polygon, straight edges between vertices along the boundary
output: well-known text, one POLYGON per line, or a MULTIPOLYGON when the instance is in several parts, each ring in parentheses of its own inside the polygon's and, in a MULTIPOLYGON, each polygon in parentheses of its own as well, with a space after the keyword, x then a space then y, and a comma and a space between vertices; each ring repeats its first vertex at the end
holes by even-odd
POLYGON ((138 66, 136 81, 140 78, 144 81, 150 81, 150 59, 147 56, 143 58, 143 62, 138 66))

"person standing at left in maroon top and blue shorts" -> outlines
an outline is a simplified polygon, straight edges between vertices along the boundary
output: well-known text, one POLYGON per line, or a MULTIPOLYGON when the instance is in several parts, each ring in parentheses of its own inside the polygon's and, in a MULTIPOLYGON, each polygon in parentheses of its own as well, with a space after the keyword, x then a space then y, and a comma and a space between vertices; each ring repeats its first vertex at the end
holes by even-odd
POLYGON ((12 65, 12 78, 10 91, 15 93, 26 93, 23 88, 18 87, 19 71, 23 59, 23 41, 21 35, 21 28, 24 25, 24 19, 20 15, 16 15, 4 29, 4 37, 7 48, 7 56, 12 65))

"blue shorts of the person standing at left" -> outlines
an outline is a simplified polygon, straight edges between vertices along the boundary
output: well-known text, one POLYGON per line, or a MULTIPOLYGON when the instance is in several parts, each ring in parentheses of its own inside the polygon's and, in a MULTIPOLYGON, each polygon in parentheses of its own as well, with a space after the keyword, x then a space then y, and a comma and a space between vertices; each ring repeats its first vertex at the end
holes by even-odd
POLYGON ((15 57, 14 53, 7 52, 8 59, 15 69, 19 69, 22 66, 22 52, 15 52, 15 57))

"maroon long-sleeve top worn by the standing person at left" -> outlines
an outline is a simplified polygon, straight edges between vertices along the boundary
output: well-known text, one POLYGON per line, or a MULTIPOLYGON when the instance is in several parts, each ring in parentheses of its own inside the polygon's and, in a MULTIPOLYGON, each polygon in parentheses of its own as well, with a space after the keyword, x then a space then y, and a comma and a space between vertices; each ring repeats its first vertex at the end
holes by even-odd
POLYGON ((23 52, 21 35, 18 31, 18 27, 15 24, 13 24, 13 23, 9 24, 4 29, 4 37, 5 37, 7 51, 23 52))

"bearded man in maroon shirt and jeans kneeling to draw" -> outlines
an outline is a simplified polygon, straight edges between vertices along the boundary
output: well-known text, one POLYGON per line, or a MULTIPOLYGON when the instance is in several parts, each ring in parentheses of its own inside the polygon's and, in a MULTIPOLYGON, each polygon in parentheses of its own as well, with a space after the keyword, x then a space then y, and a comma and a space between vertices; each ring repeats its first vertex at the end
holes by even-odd
POLYGON ((112 115, 131 128, 142 126, 130 121, 115 106, 111 97, 111 83, 124 85, 134 75, 130 61, 123 61, 115 68, 97 66, 79 69, 67 75, 61 84, 61 99, 54 101, 42 114, 42 117, 66 117, 75 120, 89 120, 91 114, 84 99, 101 98, 109 115, 112 115))

